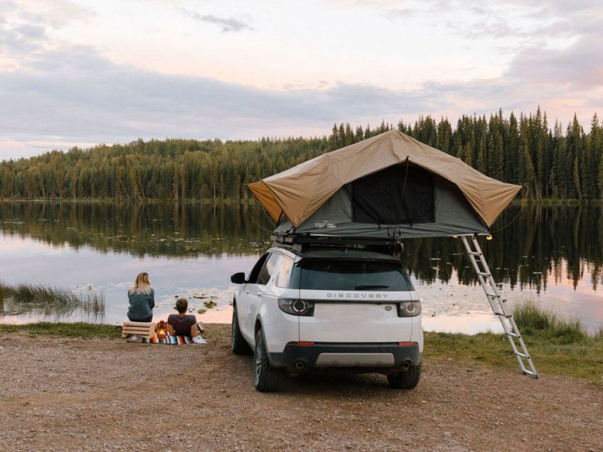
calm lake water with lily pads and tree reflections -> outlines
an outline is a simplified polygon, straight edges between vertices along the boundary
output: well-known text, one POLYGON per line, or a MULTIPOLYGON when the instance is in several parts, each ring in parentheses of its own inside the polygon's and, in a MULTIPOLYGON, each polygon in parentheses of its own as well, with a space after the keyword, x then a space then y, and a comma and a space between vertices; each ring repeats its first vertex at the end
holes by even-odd
MULTIPOLYGON (((141 271, 156 291, 154 318, 185 296, 200 316, 228 321, 235 286, 270 247, 272 224, 258 205, 0 203, 0 281, 105 296, 104 312, 48 312, 0 301, 0 323, 126 320, 127 288, 141 271)), ((502 294, 532 299, 591 331, 603 325, 600 206, 513 205, 481 240, 502 294), (511 223, 511 224, 509 224, 511 223), (499 228, 502 230, 497 231, 499 228)), ((407 240, 403 262, 422 299, 426 330, 500 330, 460 240, 407 240)))

